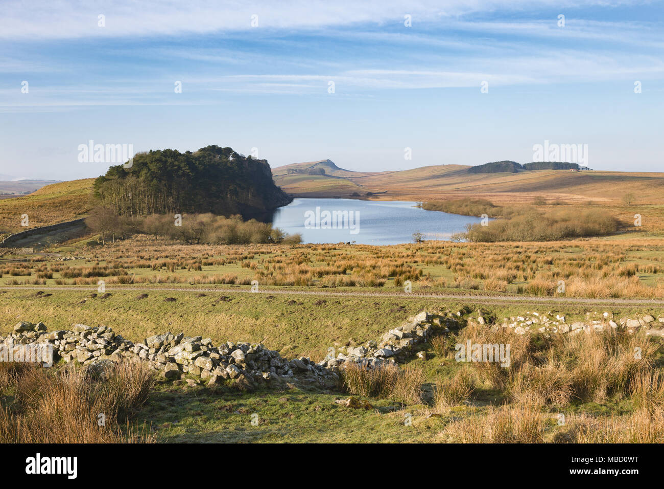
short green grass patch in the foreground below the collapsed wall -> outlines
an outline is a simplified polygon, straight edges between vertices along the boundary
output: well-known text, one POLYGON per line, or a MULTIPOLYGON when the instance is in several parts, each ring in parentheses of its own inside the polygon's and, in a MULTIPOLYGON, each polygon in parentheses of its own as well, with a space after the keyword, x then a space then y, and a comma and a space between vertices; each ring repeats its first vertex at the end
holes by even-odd
POLYGON ((372 399, 375 409, 365 410, 334 402, 345 397, 299 389, 240 393, 165 385, 138 416, 152 420, 162 442, 424 442, 435 441, 435 428, 442 424, 440 418, 425 419, 425 406, 402 408, 372 399), (406 413, 413 416, 410 426, 406 413))

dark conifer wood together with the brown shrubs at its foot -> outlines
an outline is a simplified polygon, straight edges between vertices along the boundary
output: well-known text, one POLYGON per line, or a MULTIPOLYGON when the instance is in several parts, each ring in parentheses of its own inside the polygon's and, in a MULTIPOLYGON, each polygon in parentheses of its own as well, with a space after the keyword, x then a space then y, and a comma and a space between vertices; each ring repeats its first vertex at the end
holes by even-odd
POLYGON ((253 219, 291 198, 274 184, 266 160, 231 148, 139 153, 130 168, 112 166, 95 181, 94 200, 86 224, 104 244, 137 233, 189 244, 300 240, 253 219))

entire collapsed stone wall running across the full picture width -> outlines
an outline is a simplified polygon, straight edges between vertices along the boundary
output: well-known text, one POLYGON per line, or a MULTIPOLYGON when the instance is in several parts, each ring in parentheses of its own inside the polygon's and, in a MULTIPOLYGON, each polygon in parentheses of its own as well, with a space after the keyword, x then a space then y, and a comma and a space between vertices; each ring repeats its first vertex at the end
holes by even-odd
MULTIPOLYGON (((44 323, 22 321, 0 343, 27 345, 50 343, 54 361, 77 361, 84 366, 103 366, 111 361, 130 359, 146 362, 168 380, 187 377, 190 383, 214 385, 234 379, 241 385, 254 387, 267 384, 283 387, 286 383, 333 389, 339 385, 340 369, 347 362, 376 367, 383 363, 400 363, 414 355, 422 355, 432 335, 449 333, 466 324, 480 324, 498 331, 506 328, 515 334, 541 333, 578 334, 605 329, 624 328, 631 333, 645 331, 645 335, 664 337, 664 317, 653 315, 614 318, 612 313, 588 313, 586 321, 566 323, 564 315, 527 313, 525 316, 491 321, 482 313, 473 315, 470 309, 452 312, 437 309, 422 311, 409 317, 402 325, 387 331, 379 341, 370 340, 361 346, 330 348, 323 361, 315 363, 307 357, 284 359, 278 351, 260 343, 227 341, 212 345, 209 338, 185 337, 167 332, 151 336, 141 343, 133 343, 117 335, 110 327, 90 327, 76 324, 71 330, 51 331, 44 323)), ((1 360, 1 359, 0 359, 1 360)))

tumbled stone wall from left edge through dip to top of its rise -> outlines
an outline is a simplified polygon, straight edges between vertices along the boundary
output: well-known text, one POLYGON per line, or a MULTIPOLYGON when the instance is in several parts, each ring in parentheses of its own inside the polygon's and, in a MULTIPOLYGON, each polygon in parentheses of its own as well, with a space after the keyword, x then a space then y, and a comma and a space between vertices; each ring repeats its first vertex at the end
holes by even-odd
POLYGON ((346 361, 370 367, 404 361, 415 353, 418 345, 426 343, 434 331, 449 331, 445 326, 448 321, 422 311, 404 325, 385 333, 380 341, 371 340, 365 346, 347 350, 343 347, 338 355, 328 355, 319 363, 307 357, 289 361, 260 343, 228 341, 215 346, 209 338, 185 337, 184 333, 167 332, 133 343, 110 327, 82 324, 74 325, 71 330, 49 333, 44 323, 22 321, 6 338, 0 337, 0 343, 50 343, 54 361, 77 361, 84 366, 122 359, 144 361, 169 380, 185 376, 208 384, 235 379, 247 386, 292 382, 331 389, 339 384, 339 369, 346 361))

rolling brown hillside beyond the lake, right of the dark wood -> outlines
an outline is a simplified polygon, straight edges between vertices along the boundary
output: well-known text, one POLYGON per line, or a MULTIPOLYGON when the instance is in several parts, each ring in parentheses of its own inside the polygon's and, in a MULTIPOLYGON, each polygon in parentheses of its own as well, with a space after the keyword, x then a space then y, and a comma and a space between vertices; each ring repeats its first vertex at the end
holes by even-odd
POLYGON ((272 170, 275 182, 294 197, 363 197, 380 200, 447 200, 479 197, 496 203, 531 202, 535 197, 564 202, 622 202, 627 193, 636 202, 664 204, 664 173, 529 170, 521 172, 470 173, 471 166, 435 165, 396 172, 288 174, 329 160, 282 166, 272 170), (367 196, 367 192, 371 192, 367 196), (357 194, 357 195, 353 195, 357 194))

